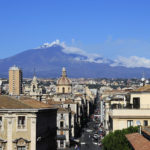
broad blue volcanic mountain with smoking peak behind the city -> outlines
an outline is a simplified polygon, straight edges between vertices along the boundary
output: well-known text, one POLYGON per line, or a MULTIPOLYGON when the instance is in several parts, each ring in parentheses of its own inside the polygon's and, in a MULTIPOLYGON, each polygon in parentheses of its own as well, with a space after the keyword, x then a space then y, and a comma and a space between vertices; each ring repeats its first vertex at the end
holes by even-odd
POLYGON ((8 75, 9 67, 16 65, 22 68, 24 77, 32 77, 34 68, 38 77, 59 77, 62 67, 66 67, 68 76, 72 78, 140 78, 143 72, 150 76, 148 68, 112 67, 112 63, 112 60, 104 59, 98 55, 90 55, 53 43, 1 59, 0 74, 8 75))

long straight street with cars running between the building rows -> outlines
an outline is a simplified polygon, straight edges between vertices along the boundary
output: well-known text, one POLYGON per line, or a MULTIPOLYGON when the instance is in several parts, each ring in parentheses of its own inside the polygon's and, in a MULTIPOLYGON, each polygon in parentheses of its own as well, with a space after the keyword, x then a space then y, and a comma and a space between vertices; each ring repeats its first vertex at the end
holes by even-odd
MULTIPOLYGON (((90 120, 90 122, 87 123, 86 128, 82 129, 82 135, 78 139, 79 149, 77 150, 101 150, 101 137, 100 135, 100 99, 99 95, 96 100, 96 108, 93 114, 93 118, 90 120), (94 117, 95 116, 95 117, 94 117)), ((75 150, 74 147, 67 148, 66 150, 75 150)))

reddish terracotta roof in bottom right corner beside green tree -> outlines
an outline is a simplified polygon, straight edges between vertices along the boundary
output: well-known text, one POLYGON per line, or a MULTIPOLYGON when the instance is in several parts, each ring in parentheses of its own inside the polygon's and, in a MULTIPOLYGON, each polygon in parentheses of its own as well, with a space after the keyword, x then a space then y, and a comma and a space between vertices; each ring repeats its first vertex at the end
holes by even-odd
POLYGON ((150 141, 139 133, 126 134, 126 138, 135 150, 150 150, 150 141))

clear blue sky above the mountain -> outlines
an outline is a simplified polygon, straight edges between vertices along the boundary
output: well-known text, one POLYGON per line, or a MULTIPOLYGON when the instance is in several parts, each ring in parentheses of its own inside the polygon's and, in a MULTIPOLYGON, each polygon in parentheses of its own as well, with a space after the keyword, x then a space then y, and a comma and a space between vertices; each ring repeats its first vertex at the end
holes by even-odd
POLYGON ((0 0, 0 59, 57 39, 150 67, 150 1, 0 0))

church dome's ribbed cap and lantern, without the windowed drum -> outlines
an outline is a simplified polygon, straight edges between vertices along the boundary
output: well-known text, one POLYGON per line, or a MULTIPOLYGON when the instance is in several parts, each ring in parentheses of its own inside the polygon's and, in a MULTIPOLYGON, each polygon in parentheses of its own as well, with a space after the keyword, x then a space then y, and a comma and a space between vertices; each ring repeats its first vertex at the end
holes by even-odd
POLYGON ((70 85, 71 80, 67 78, 66 69, 63 67, 62 76, 57 80, 57 85, 70 85))

